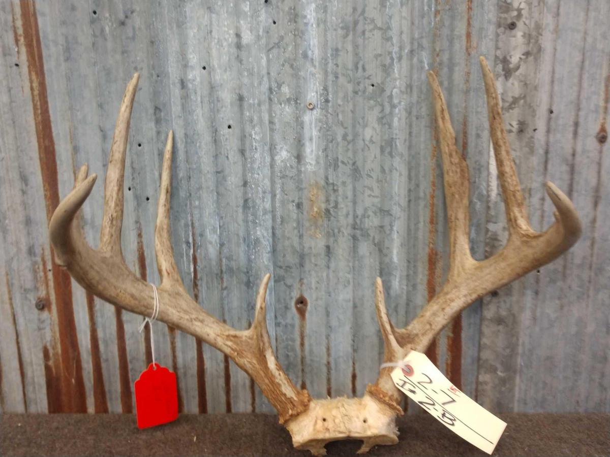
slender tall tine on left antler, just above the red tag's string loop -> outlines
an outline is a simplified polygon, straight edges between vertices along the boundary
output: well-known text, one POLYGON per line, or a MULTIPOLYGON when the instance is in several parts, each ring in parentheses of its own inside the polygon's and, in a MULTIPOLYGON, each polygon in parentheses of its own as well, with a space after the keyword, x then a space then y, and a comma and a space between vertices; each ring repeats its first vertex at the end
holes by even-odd
POLYGON ((159 204, 157 205, 157 224, 154 231, 155 254, 161 285, 179 284, 182 280, 174 260, 174 249, 171 246, 170 200, 171 200, 171 157, 174 145, 174 133, 170 130, 163 154, 159 204))

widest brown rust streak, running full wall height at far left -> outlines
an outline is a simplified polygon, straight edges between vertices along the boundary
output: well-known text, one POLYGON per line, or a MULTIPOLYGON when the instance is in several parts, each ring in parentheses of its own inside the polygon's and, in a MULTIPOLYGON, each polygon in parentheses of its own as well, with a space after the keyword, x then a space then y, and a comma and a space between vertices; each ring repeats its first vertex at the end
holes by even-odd
MULTIPOLYGON (((43 62, 40 32, 34 2, 20 2, 21 31, 16 31, 13 21, 13 35, 17 48, 25 51, 27 73, 32 97, 32 112, 38 144, 38 160, 45 194, 47 221, 59 204, 59 185, 57 183, 57 161, 51 114, 47 97, 45 65, 43 62)), ((76 335, 76 322, 72 303, 71 279, 67 271, 60 269, 51 252, 51 271, 55 292, 57 332, 59 333, 60 360, 62 369, 59 374, 61 385, 60 411, 66 413, 86 413, 87 397, 82 375, 81 353, 76 335)), ((55 326, 51 331, 55 331, 55 326)), ((49 357, 51 354, 48 354, 49 357)), ((57 377, 52 378, 58 380, 57 377)), ((53 392, 56 389, 52 389, 53 392)))

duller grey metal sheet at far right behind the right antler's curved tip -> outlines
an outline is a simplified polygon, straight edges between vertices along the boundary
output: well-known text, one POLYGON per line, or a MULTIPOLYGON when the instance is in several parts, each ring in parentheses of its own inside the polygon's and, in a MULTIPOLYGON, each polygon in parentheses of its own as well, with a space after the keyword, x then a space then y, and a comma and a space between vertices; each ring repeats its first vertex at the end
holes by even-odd
MULTIPOLYGON (((600 229, 607 147, 597 136, 608 111, 605 7, 512 2, 498 12, 495 69, 531 221, 536 228, 553 221, 542 186, 552 180, 584 224, 583 238, 564 257, 483 300, 478 393, 498 411, 608 408, 608 389, 598 384, 608 380, 608 297, 592 297, 593 284, 603 289, 600 277, 610 277, 608 264, 596 263, 610 246, 600 229)), ((489 252, 506 239, 496 188, 490 169, 489 252)))

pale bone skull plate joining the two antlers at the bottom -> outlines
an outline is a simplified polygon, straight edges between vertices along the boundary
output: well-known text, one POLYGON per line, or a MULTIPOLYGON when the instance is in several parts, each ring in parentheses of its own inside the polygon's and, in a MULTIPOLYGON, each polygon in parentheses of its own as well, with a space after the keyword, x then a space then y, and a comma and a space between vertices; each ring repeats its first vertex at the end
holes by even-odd
POLYGON ((339 397, 311 400, 303 413, 284 425, 292 435, 295 448, 313 455, 326 455, 324 446, 343 439, 362 440, 359 454, 377 444, 397 444, 398 412, 373 395, 359 399, 339 397))

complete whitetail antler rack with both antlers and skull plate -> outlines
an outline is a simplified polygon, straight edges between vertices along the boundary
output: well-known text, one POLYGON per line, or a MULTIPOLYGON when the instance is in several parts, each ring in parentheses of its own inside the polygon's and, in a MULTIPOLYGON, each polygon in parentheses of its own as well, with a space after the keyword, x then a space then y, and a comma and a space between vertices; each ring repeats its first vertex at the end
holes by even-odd
MULTIPOLYGON (((445 99, 434 73, 428 78, 432 88, 436 124, 442 152, 450 236, 450 269, 447 282, 434 299, 405 328, 390 322, 381 279, 375 283, 375 306, 385 343, 384 361, 402 360, 411 350, 423 352, 432 339, 457 314, 485 294, 504 286, 537 267, 550 262, 572 246, 581 233, 581 224, 572 202, 552 183, 547 193, 555 205, 556 221, 547 231, 535 232, 529 225, 523 194, 504 131, 500 99, 493 74, 481 57, 487 95, 489 127, 501 182, 508 243, 493 257, 476 261, 468 245, 468 167, 455 146, 455 135, 445 99)), ((123 177, 129 121, 138 83, 136 74, 125 91, 112 140, 106 174, 104 219, 99 248, 88 246, 82 232, 81 205, 96 180, 87 177, 87 165, 78 172, 74 189, 62 200, 49 227, 51 243, 59 264, 65 266, 85 289, 113 305, 133 313, 151 314, 152 291, 125 264, 121 252, 123 224, 123 177)), ((315 455, 325 454, 325 444, 340 439, 361 439, 360 452, 376 444, 395 444, 398 430, 395 418, 400 393, 381 370, 375 384, 369 384, 359 399, 311 399, 306 390, 295 387, 282 370, 271 348, 265 319, 265 295, 270 275, 260 284, 256 314, 248 330, 235 330, 206 311, 185 290, 179 277, 170 243, 170 188, 173 134, 170 132, 163 157, 155 250, 161 285, 159 321, 195 336, 231 359, 259 385, 279 414, 279 421, 292 434, 293 444, 315 455)))

